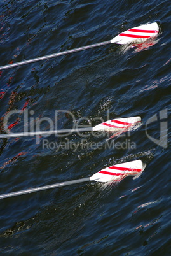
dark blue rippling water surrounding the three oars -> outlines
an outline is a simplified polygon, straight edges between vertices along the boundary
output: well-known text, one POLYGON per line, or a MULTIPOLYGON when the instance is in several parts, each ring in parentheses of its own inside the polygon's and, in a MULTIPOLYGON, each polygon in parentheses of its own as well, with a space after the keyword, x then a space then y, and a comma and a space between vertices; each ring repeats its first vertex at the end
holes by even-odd
MULTIPOLYGON (((129 139, 135 148, 88 148, 78 134, 46 138, 68 140, 79 145, 76 150, 43 148, 44 138, 39 144, 35 137, 1 139, 1 194, 84 178, 120 162, 147 164, 139 178, 127 177, 118 185, 83 183, 2 199, 1 253, 170 255, 170 11, 167 0, 1 1, 1 66, 161 21, 160 35, 147 48, 107 45, 1 72, 1 133, 11 110, 18 110, 10 119, 12 132, 23 132, 26 110, 34 111, 29 117, 53 121, 55 110, 67 110, 93 125, 99 123, 95 117, 107 120, 107 115, 140 115, 143 122, 115 138, 119 143, 129 139), (158 121, 147 125, 153 116, 158 121), (165 145, 154 143, 146 131, 165 145)), ((58 128, 69 127, 72 118, 60 113, 58 128)), ((106 138, 85 140, 104 143, 106 138)))

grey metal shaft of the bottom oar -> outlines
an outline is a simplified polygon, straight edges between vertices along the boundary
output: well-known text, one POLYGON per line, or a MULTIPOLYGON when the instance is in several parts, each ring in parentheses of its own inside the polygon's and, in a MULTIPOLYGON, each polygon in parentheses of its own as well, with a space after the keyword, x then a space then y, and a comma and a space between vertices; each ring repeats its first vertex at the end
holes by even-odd
POLYGON ((57 188, 57 187, 64 187, 64 186, 67 186, 67 185, 74 185, 74 184, 77 184, 77 183, 83 183, 83 182, 87 182, 87 181, 90 181, 89 177, 78 179, 78 180, 64 181, 62 183, 56 183, 56 184, 53 184, 53 185, 46 185, 46 186, 38 187, 38 188, 25 189, 25 190, 21 190, 21 191, 17 191, 17 192, 11 192, 11 193, 8 193, 8 194, 0 195, 0 199, 7 198, 7 197, 13 197, 13 196, 21 196, 21 195, 24 195, 24 194, 39 192, 41 190, 47 190, 47 189, 57 188))

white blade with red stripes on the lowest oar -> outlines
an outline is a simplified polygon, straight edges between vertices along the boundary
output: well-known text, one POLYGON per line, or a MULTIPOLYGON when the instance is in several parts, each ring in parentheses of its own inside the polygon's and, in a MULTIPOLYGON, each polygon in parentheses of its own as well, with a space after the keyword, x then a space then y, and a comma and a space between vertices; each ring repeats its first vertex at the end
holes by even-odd
POLYGON ((93 174, 90 180, 98 182, 120 181, 126 176, 139 176, 145 167, 146 164, 143 164, 141 160, 116 164, 93 174))

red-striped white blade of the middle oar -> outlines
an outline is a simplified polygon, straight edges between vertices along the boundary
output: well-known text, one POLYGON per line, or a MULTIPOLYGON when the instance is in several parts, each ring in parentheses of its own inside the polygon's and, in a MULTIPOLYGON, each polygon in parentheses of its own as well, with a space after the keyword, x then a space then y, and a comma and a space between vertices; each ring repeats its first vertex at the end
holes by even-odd
POLYGON ((93 127, 93 131, 127 131, 133 125, 139 124, 140 117, 118 118, 103 122, 93 127))

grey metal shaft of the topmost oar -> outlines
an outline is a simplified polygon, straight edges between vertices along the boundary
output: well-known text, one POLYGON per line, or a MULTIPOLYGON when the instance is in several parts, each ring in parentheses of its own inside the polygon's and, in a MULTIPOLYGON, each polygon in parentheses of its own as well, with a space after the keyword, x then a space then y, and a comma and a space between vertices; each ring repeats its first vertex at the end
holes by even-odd
POLYGON ((53 53, 53 54, 46 55, 46 56, 43 56, 43 57, 38 57, 38 58, 30 59, 30 60, 24 60, 24 61, 20 61, 20 62, 17 62, 17 63, 1 66, 0 70, 8 69, 8 68, 15 68, 17 66, 22 66, 22 65, 37 62, 37 61, 40 61, 40 60, 51 59, 51 58, 62 56, 62 55, 69 54, 69 53, 79 52, 79 51, 87 50, 87 49, 90 49, 90 48, 95 48, 95 47, 102 46, 102 45, 108 45, 109 43, 111 43, 110 40, 109 41, 104 41, 104 42, 101 42, 101 43, 95 43, 93 45, 87 45, 87 46, 67 50, 67 51, 64 51, 64 52, 53 53))

